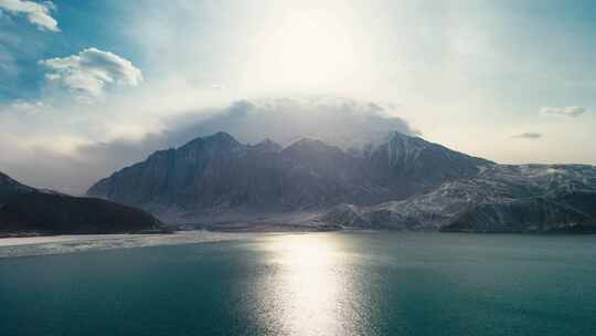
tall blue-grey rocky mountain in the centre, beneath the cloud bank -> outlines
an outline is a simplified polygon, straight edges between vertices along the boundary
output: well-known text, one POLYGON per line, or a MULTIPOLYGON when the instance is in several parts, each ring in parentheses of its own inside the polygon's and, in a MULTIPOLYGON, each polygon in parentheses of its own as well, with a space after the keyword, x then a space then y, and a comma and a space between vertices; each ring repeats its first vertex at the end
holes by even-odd
POLYGON ((88 195, 156 212, 320 210, 403 199, 490 165, 397 133, 359 153, 312 139, 284 149, 270 140, 251 146, 217 133, 157 151, 88 195))

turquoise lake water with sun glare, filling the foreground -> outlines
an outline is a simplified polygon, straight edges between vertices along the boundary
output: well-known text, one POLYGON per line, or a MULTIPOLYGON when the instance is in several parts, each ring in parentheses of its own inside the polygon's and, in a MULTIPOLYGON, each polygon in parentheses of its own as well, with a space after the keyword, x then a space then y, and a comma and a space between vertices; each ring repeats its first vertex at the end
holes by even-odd
POLYGON ((0 259, 0 335, 596 335, 596 237, 312 233, 0 259))

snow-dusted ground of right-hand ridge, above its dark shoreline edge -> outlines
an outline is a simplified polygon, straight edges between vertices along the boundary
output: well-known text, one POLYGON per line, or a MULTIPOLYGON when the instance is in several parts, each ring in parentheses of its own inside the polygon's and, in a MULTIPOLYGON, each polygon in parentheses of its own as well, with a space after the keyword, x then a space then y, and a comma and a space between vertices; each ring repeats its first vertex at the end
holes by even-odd
MULTIPOLYGON (((499 221, 504 221, 504 218, 508 221, 513 221, 511 218, 520 220, 512 213, 512 209, 518 212, 533 209, 535 213, 543 213, 541 224, 547 228, 561 227, 561 220, 573 228, 572 224, 579 218, 594 213, 594 207, 590 206, 592 199, 596 199, 594 195, 595 166, 493 165, 481 169, 476 177, 449 180, 427 193, 405 200, 370 207, 334 207, 321 217, 321 221, 341 227, 383 225, 393 229, 439 230, 466 211, 488 207, 486 209, 496 212, 499 221), (570 197, 573 195, 577 196, 570 197), (560 210, 561 217, 552 217, 554 209, 560 210), (577 211, 584 213, 578 214, 577 211), (545 223, 546 218, 555 222, 545 223)), ((529 214, 523 218, 528 221, 529 214)), ((594 223, 593 220, 585 221, 594 223)))

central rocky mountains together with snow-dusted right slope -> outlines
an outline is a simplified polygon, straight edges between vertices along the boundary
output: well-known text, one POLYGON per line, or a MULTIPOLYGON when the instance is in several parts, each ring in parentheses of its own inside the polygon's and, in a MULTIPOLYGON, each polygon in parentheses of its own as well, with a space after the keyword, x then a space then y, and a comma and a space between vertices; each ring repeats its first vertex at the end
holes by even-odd
POLYGON ((462 232, 594 232, 596 168, 498 165, 397 132, 358 148, 226 133, 159 150, 88 196, 171 223, 462 232))

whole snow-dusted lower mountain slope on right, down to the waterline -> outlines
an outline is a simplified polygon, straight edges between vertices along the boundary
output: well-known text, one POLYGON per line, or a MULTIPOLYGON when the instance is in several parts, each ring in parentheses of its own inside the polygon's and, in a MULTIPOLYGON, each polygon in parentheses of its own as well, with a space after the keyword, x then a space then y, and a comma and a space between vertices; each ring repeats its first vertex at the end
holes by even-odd
MULTIPOLYGON (((494 165, 473 178, 355 212, 363 225, 373 228, 587 232, 596 228, 596 167, 494 165)), ((328 212, 322 220, 338 224, 344 216, 328 212)))

